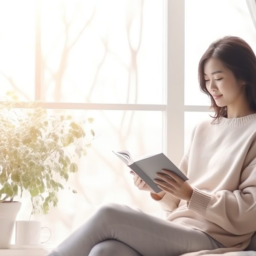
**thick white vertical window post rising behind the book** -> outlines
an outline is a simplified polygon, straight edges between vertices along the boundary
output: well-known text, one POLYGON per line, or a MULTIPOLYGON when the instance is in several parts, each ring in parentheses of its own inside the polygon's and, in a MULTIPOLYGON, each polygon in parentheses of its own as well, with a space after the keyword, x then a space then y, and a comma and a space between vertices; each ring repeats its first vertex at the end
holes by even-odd
POLYGON ((166 154, 179 165, 184 154, 185 0, 167 1, 166 154))

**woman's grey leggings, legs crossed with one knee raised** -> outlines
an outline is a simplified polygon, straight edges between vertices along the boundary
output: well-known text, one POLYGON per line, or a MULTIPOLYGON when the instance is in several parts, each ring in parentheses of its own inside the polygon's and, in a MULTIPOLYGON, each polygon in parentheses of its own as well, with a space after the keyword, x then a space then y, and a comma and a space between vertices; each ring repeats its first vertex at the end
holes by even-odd
POLYGON ((126 205, 101 207, 49 256, 177 256, 224 247, 199 230, 126 205))

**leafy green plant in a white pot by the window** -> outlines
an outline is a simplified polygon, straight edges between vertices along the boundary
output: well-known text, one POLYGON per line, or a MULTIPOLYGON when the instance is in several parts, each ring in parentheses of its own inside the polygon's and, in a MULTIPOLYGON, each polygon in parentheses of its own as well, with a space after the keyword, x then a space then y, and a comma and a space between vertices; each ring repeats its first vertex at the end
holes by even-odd
POLYGON ((21 206, 14 198, 29 192, 32 212, 56 207, 58 190, 78 171, 74 158, 86 155, 94 137, 90 128, 85 133, 92 118, 75 122, 71 116, 50 116, 38 102, 25 109, 14 104, 0 104, 0 248, 9 247, 21 206))

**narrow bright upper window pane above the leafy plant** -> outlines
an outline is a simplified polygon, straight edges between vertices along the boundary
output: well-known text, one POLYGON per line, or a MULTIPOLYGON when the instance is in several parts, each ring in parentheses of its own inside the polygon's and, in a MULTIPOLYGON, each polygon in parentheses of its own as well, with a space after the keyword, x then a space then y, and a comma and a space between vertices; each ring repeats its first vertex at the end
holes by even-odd
POLYGON ((0 100, 15 91, 32 101, 35 87, 35 1, 0 1, 0 100))

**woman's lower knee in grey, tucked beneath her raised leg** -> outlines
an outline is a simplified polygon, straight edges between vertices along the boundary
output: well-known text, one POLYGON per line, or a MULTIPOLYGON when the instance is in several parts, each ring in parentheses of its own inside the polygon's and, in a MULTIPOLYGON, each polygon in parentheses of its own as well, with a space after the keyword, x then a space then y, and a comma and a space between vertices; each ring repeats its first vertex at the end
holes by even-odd
POLYGON ((120 255, 120 252, 122 252, 122 256, 142 256, 129 245, 114 239, 105 240, 96 244, 88 256, 113 256, 120 255))

